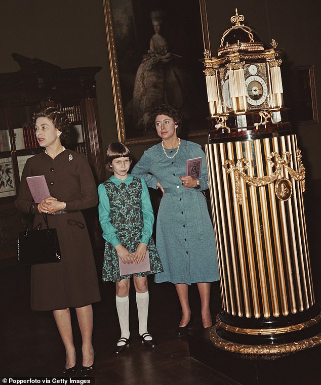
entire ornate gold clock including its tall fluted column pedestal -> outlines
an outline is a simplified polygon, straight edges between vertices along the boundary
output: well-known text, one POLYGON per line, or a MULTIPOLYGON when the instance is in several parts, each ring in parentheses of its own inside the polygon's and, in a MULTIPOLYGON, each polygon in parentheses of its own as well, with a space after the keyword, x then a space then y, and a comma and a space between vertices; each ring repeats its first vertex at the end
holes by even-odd
MULTIPOLYGON (((304 222, 305 167, 283 106, 281 50, 274 40, 265 49, 243 20, 236 10, 217 56, 206 52, 204 60, 211 112, 205 152, 222 293, 210 339, 213 357, 222 350, 260 355, 261 365, 267 355, 321 346, 321 307, 304 222)), ((274 358, 267 358, 269 383, 274 358)), ((234 367, 244 362, 235 355, 234 367)), ((257 374, 253 365, 244 383, 257 374)))

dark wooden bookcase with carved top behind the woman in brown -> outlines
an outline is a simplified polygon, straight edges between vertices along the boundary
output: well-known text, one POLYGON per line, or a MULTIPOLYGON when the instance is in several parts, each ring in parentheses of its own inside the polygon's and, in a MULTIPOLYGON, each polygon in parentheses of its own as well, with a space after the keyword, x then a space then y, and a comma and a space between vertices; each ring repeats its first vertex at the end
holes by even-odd
MULTIPOLYGON (((0 74, 0 264, 17 257, 19 231, 25 215, 15 200, 26 159, 44 151, 38 147, 32 113, 39 107, 58 106, 71 121, 64 146, 85 153, 97 185, 105 180, 99 127, 95 74, 101 67, 62 69, 39 59, 12 54, 21 69, 0 74)), ((86 210, 94 246, 101 242, 97 209, 86 210)))

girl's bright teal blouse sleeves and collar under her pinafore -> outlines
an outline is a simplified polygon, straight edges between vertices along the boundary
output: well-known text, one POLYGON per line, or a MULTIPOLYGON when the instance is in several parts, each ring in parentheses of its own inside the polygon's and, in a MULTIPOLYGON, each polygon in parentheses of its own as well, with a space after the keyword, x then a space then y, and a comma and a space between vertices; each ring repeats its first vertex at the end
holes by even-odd
MULTIPOLYGON (((113 175, 109 178, 114 184, 120 185, 121 183, 126 183, 129 185, 133 181, 133 177, 128 174, 128 177, 121 181, 120 179, 115 178, 113 175)), ((142 195, 141 195, 141 203, 142 203, 142 212, 143 212, 143 222, 144 227, 142 230, 142 237, 140 239, 141 243, 148 244, 149 238, 153 232, 154 225, 154 213, 153 208, 150 202, 150 196, 148 192, 148 187, 144 179, 142 181, 142 195)), ((116 229, 110 223, 110 205, 109 199, 106 194, 106 189, 103 184, 98 186, 98 196, 99 196, 99 221, 103 231, 103 238, 111 243, 113 247, 121 244, 117 238, 116 229)))

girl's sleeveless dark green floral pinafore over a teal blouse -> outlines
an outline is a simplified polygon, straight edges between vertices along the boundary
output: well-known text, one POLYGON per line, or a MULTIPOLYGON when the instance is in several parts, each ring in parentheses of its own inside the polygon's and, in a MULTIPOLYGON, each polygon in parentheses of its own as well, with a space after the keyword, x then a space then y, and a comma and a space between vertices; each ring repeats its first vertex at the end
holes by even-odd
MULTIPOLYGON (((142 184, 139 178, 126 185, 115 185, 109 179, 103 183, 110 204, 110 223, 115 228, 117 238, 129 252, 135 252, 142 236, 143 212, 141 205, 142 184)), ((144 277, 149 274, 163 271, 158 252, 152 237, 150 237, 147 250, 149 251, 150 271, 134 274, 144 277)), ((102 280, 118 282, 129 279, 130 275, 119 275, 118 254, 111 243, 105 243, 102 280)))

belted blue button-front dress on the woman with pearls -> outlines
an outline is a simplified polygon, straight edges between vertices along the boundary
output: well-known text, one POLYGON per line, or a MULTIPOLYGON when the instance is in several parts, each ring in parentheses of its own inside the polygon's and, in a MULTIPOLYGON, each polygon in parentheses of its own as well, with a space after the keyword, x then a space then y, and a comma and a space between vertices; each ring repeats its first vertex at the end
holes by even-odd
MULTIPOLYGON (((166 150, 172 156, 176 149, 166 150)), ((155 282, 212 282, 219 279, 214 230, 202 190, 207 189, 205 153, 196 143, 182 140, 174 158, 165 156, 162 143, 144 151, 132 175, 144 178, 148 187, 159 182, 165 195, 156 222, 156 247, 164 272, 155 282), (186 175, 186 160, 202 157, 200 188, 186 189, 179 179, 186 175)))

